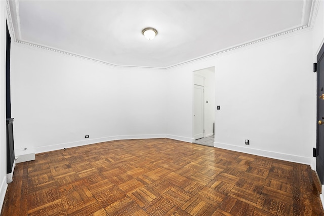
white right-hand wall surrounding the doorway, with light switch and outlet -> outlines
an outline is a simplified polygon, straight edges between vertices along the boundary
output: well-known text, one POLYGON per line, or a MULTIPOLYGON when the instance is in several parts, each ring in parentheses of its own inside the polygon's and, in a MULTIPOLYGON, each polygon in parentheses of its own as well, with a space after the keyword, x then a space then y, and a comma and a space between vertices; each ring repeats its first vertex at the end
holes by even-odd
POLYGON ((169 109, 170 129, 191 138, 191 74, 215 66, 215 104, 221 110, 214 146, 310 163, 316 109, 311 46, 308 30, 167 70, 172 89, 178 89, 169 94, 176 107, 169 109))

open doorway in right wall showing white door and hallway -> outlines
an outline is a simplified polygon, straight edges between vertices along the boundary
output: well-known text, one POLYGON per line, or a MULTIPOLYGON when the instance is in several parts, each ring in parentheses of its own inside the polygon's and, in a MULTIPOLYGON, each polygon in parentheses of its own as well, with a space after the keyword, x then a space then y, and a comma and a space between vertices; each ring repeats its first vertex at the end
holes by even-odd
POLYGON ((193 138, 214 146, 215 67, 193 71, 193 138))

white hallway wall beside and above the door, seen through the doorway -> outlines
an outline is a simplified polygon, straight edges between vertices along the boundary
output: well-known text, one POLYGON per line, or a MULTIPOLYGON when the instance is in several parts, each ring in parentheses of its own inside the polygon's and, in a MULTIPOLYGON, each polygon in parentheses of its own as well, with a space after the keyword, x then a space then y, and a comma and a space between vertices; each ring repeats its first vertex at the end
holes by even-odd
POLYGON ((205 68, 194 71, 205 77, 204 83, 204 128, 205 137, 213 136, 213 124, 215 121, 215 68, 205 68), (206 103, 208 101, 208 103, 206 103))

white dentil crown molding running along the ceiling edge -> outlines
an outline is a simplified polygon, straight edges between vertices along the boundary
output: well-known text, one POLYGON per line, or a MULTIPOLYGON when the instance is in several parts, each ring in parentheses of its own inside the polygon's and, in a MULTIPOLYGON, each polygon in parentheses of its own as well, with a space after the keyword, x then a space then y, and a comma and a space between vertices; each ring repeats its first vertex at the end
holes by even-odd
MULTIPOLYGON (((18 25, 17 30, 18 30, 18 33, 20 33, 20 19, 19 19, 18 1, 13 1, 13 2, 15 2, 15 7, 14 7, 15 11, 14 12, 15 12, 15 15, 16 15, 15 21, 17 22, 17 25, 18 25)), ((302 21, 304 20, 304 14, 305 14, 305 0, 303 2, 304 3, 303 3, 302 21)), ((73 57, 77 57, 77 58, 81 58, 81 59, 85 59, 85 60, 90 60, 90 61, 93 61, 93 62, 97 62, 97 63, 101 63, 101 64, 113 66, 113 67, 153 68, 153 69, 169 69, 169 68, 177 67, 177 66, 180 66, 180 65, 189 64, 189 63, 192 63, 192 62, 196 62, 196 61, 199 61, 199 60, 203 60, 203 59, 211 58, 211 57, 214 57, 214 56, 217 56, 217 55, 220 55, 220 54, 224 54, 224 53, 227 53, 227 52, 230 52, 230 51, 234 51, 234 50, 237 50, 239 48, 244 48, 244 47, 247 47, 247 46, 255 45, 255 44, 258 44, 260 42, 263 42, 263 41, 266 41, 266 40, 269 40, 269 39, 273 39, 273 38, 278 37, 278 36, 295 33, 297 31, 306 29, 308 27, 313 27, 315 18, 317 16, 318 6, 319 6, 319 1, 315 1, 315 0, 312 1, 311 12, 310 12, 311 14, 310 14, 309 21, 308 21, 307 25, 301 25, 301 26, 298 26, 298 27, 295 27, 295 28, 292 28, 292 29, 289 29, 289 30, 286 30, 286 31, 271 34, 271 35, 268 35, 268 36, 265 36, 265 37, 262 37, 262 38, 259 38, 259 39, 256 39, 256 40, 245 42, 243 44, 239 44, 239 45, 236 45, 236 46, 233 46, 233 47, 229 47, 229 48, 226 48, 224 50, 217 51, 215 53, 200 56, 200 57, 197 57, 197 58, 194 58, 194 59, 191 59, 191 60, 187 60, 187 61, 184 61, 184 62, 173 64, 173 65, 170 65, 170 66, 167 66, 167 67, 153 67, 153 66, 117 65, 117 64, 106 62, 106 61, 98 60, 98 59, 95 59, 95 58, 86 57, 86 56, 78 55, 78 54, 71 53, 71 52, 68 52, 68 51, 63 51, 63 50, 59 50, 59 49, 56 49, 56 48, 50 48, 50 47, 45 46, 45 45, 37 45, 37 44, 35 44, 33 42, 28 42, 28 41, 23 41, 23 40, 17 39, 16 35, 15 35, 14 24, 13 24, 13 21, 12 21, 12 13, 11 13, 9 0, 6 0, 6 3, 7 3, 8 21, 10 23, 10 28, 12 29, 12 34, 13 34, 12 38, 14 39, 14 41, 18 42, 19 44, 23 44, 23 45, 27 45, 27 46, 30 46, 30 47, 39 48, 39 49, 43 49, 43 50, 47 50, 47 51, 52 51, 52 52, 56 52, 56 53, 60 53, 60 54, 65 54, 65 55, 68 55, 68 56, 73 56, 73 57)), ((19 37, 19 38, 21 38, 21 37, 19 37)))

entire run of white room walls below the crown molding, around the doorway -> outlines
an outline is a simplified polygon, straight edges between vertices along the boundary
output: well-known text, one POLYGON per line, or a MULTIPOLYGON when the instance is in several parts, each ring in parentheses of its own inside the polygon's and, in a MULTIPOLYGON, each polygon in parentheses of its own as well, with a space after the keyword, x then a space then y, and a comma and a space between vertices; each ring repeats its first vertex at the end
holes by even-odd
POLYGON ((311 32, 167 70, 112 67, 13 43, 15 147, 44 152, 149 137, 192 142, 192 71, 215 67, 215 104, 221 106, 215 146, 312 163, 311 32))

